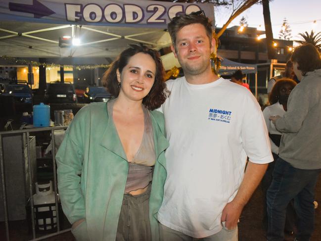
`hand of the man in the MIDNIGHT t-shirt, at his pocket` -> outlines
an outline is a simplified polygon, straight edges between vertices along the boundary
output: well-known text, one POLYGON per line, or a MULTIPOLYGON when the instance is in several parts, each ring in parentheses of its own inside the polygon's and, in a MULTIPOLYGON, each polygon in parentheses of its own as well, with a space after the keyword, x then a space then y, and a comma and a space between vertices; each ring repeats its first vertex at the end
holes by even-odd
POLYGON ((231 201, 223 209, 221 222, 225 221, 225 227, 227 229, 235 229, 238 219, 241 215, 243 206, 231 201))

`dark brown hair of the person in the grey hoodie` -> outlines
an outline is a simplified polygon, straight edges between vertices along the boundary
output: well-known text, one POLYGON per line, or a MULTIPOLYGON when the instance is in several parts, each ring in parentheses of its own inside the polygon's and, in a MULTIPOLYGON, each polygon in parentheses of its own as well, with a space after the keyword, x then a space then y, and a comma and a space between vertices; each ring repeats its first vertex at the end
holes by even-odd
POLYGON ((298 70, 301 70, 302 76, 306 76, 310 71, 321 69, 320 52, 312 44, 304 44, 295 48, 291 61, 298 63, 298 70))

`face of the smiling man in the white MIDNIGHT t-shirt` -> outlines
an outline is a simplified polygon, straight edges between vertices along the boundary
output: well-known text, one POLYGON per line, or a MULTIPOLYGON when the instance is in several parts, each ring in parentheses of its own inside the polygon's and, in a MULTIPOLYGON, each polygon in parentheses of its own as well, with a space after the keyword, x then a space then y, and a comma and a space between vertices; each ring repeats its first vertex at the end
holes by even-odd
POLYGON ((176 35, 176 48, 172 46, 185 75, 200 75, 211 68, 210 57, 215 40, 210 43, 205 27, 199 23, 183 27, 176 35))

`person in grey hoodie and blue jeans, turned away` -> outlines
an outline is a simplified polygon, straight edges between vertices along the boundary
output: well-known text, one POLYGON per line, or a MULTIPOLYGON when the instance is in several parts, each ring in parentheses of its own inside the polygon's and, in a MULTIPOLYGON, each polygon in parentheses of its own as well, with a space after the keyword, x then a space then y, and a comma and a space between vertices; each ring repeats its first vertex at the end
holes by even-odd
POLYGON ((286 206, 295 198, 297 241, 310 241, 314 230, 314 193, 321 173, 321 55, 311 44, 291 56, 301 81, 291 92, 283 117, 271 116, 282 133, 279 158, 267 192, 268 241, 284 240, 286 206))

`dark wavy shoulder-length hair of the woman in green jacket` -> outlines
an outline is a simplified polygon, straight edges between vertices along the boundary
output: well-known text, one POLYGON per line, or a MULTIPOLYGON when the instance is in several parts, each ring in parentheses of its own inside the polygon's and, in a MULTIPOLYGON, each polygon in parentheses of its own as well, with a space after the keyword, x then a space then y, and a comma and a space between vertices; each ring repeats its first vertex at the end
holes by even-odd
POLYGON ((168 91, 166 90, 166 85, 164 82, 165 70, 160 59, 160 55, 157 51, 147 48, 145 46, 134 46, 131 45, 130 48, 125 49, 121 52, 118 58, 111 64, 109 69, 104 73, 102 77, 102 83, 106 87, 107 91, 114 97, 119 95, 119 84, 117 81, 116 70, 119 69, 121 73, 123 68, 128 64, 129 59, 137 53, 149 54, 156 64, 155 82, 148 93, 142 99, 142 103, 149 110, 154 110, 159 108, 167 97, 168 91))

